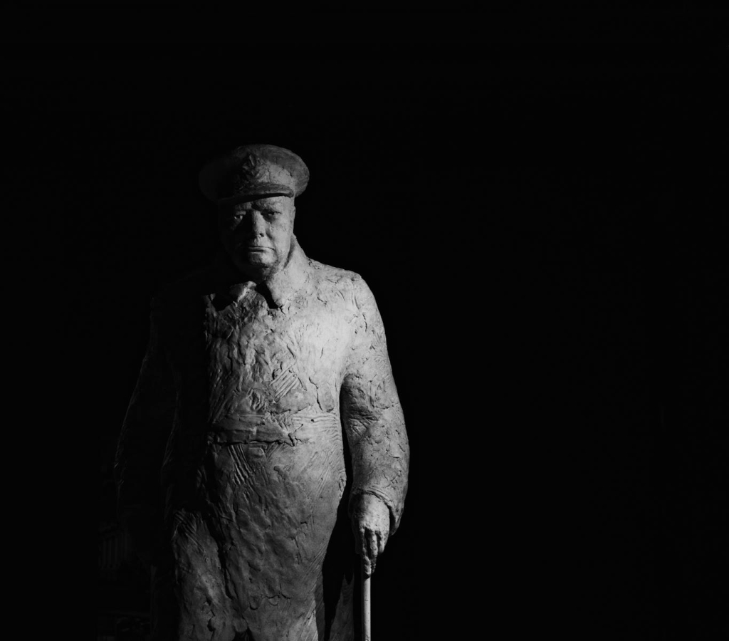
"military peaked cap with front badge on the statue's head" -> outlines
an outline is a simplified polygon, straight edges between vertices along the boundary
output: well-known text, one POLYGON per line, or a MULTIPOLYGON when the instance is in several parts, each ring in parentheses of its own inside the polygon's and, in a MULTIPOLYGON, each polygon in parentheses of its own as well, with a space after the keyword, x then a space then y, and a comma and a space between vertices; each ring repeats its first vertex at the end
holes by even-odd
POLYGON ((200 171, 200 189, 214 203, 233 204, 303 193, 309 170, 294 152, 273 144, 246 144, 211 160, 200 171))

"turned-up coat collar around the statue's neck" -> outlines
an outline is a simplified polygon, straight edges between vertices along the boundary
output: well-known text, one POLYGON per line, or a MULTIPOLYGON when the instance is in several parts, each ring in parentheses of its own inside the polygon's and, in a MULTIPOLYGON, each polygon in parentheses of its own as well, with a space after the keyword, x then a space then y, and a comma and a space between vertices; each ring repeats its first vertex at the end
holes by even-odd
MULTIPOLYGON (((227 294, 233 300, 241 298, 245 290, 252 290, 257 287, 253 281, 249 281, 245 277, 241 279, 240 271, 235 268, 235 265, 233 265, 233 262, 227 257, 225 252, 221 252, 218 255, 216 263, 219 284, 226 287, 227 294)), ((286 261, 286 265, 262 283, 268 289, 270 298, 276 307, 283 307, 286 301, 292 298, 303 287, 308 271, 308 258, 296 240, 296 236, 293 236, 291 239, 289 260, 286 261)))

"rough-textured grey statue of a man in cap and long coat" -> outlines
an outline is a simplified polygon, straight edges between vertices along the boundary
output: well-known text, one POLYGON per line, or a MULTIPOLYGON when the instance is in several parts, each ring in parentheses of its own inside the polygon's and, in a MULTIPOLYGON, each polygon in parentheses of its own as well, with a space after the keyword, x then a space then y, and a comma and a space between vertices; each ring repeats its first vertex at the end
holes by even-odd
POLYGON ((330 559, 347 470, 367 575, 402 515, 408 438, 381 316, 360 276, 297 243, 307 182, 272 145, 209 163, 223 250, 152 302, 115 470, 156 640, 351 639, 353 573, 330 559))

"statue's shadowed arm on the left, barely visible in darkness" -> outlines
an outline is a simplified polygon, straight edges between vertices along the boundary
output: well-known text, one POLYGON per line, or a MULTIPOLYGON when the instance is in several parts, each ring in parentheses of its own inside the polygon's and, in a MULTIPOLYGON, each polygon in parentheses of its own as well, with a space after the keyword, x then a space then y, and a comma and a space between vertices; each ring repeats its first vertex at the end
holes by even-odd
POLYGON ((160 467, 174 416, 176 392, 160 345, 161 306, 152 303, 149 343, 114 461, 117 514, 137 553, 152 561, 161 524, 160 467))

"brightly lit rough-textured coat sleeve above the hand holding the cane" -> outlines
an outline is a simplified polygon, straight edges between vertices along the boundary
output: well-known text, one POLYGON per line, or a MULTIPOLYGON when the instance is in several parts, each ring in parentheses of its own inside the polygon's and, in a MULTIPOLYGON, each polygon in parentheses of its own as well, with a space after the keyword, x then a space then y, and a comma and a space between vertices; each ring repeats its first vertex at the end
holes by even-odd
POLYGON ((382 318, 370 288, 359 278, 354 280, 354 302, 356 318, 340 397, 354 475, 351 500, 358 494, 380 498, 389 508, 392 533, 408 490, 408 435, 382 318))

